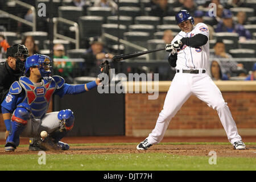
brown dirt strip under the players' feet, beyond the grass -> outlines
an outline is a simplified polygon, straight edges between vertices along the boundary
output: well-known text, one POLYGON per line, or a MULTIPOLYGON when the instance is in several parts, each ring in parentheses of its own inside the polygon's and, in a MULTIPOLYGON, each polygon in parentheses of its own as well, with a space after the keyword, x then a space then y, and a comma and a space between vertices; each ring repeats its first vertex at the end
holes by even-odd
MULTIPOLYGON (((67 137, 62 141, 67 143, 139 143, 144 138, 136 137, 67 137)), ((226 137, 166 137, 162 142, 228 142, 226 137)), ((243 142, 256 142, 256 137, 243 137, 243 142)), ((1 139, 0 144, 5 144, 1 139)), ((28 144, 28 138, 20 139, 20 144, 28 144)), ((135 154, 141 152, 163 152, 172 155, 207 156, 210 151, 215 151, 218 156, 256 157, 256 146, 247 145, 246 150, 234 150, 230 145, 154 145, 147 151, 136 150, 136 144, 114 146, 72 146, 68 151, 47 151, 47 154, 135 154)), ((28 147, 18 147, 15 152, 5 152, 0 147, 0 155, 3 154, 38 154, 38 151, 28 151, 28 147)))

